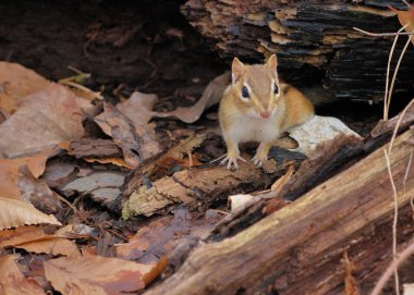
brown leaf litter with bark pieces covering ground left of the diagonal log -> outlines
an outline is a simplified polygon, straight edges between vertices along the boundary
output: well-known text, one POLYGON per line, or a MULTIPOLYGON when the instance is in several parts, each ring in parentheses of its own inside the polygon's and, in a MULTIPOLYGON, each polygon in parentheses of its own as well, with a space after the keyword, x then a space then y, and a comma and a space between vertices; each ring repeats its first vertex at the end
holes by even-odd
MULTIPOLYGON (((282 148, 297 148, 300 138, 281 138, 263 169, 210 163, 226 149, 217 116, 203 114, 229 81, 224 73, 194 106, 160 112, 154 94, 102 103, 77 76, 56 84, 1 62, 2 287, 15 294, 137 292, 180 244, 209 235, 230 212, 228 196, 254 201, 247 194, 282 189, 306 158, 282 148)), ((248 145, 242 150, 252 157, 248 145)))

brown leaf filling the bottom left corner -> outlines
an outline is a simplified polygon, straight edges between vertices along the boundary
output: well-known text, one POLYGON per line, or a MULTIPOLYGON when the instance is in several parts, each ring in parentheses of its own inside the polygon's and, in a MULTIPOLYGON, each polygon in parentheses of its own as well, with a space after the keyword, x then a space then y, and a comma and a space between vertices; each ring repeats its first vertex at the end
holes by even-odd
POLYGON ((33 279, 25 278, 19 269, 16 255, 0 257, 0 293, 7 295, 45 295, 44 288, 33 279))

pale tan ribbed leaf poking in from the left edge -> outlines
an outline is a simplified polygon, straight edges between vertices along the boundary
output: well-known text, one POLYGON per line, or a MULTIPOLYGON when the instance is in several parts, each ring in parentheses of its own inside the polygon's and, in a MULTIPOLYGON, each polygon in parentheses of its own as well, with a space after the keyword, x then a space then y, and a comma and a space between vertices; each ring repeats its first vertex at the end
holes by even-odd
POLYGON ((27 201, 0 197, 0 230, 39 223, 62 225, 27 201))

